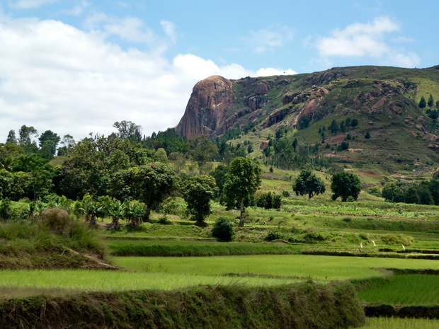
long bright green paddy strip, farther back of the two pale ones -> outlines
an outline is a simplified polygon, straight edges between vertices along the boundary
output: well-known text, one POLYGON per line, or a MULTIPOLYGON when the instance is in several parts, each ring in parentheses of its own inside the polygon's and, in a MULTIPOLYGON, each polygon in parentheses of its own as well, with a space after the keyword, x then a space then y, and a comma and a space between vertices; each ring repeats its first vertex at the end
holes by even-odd
POLYGON ((247 255, 215 257, 115 257, 115 265, 132 270, 183 275, 275 275, 345 280, 381 276, 377 268, 439 269, 434 260, 333 257, 317 255, 247 255), (375 270, 374 270, 375 268, 375 270))

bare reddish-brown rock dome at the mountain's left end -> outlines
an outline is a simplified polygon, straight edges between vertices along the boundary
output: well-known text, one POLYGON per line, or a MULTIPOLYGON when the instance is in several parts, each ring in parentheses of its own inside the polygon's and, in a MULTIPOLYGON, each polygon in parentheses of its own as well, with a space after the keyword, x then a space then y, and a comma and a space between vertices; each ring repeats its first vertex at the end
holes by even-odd
POLYGON ((188 139, 212 134, 224 123, 227 108, 234 101, 232 81, 222 76, 210 76, 198 82, 176 127, 177 134, 188 139))

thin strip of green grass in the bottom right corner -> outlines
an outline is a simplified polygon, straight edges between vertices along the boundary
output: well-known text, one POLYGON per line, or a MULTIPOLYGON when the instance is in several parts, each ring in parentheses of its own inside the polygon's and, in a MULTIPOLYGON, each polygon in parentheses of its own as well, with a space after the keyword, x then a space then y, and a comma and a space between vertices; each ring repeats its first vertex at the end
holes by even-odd
MULTIPOLYGON (((350 327, 353 329, 355 327, 350 327)), ((439 320, 425 318, 367 318, 365 325, 356 329, 437 329, 439 320)))

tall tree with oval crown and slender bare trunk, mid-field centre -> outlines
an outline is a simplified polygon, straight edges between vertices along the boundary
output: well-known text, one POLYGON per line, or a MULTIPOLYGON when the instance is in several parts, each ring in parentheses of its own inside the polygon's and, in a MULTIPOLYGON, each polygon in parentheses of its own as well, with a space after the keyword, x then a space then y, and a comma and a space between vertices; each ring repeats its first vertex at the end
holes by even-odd
POLYGON ((224 195, 239 203, 239 225, 244 225, 244 199, 254 195, 261 185, 262 168, 250 158, 235 158, 229 166, 224 183, 224 195))

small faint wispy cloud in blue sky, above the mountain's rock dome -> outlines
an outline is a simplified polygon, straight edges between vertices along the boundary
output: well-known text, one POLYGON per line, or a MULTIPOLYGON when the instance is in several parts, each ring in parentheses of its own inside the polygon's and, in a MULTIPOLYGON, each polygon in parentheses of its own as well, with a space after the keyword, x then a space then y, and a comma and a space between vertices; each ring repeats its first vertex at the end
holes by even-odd
POLYGON ((294 30, 282 26, 270 26, 258 31, 251 31, 251 37, 246 37, 255 52, 263 53, 268 50, 273 50, 275 47, 283 47, 287 42, 292 40, 294 30))

